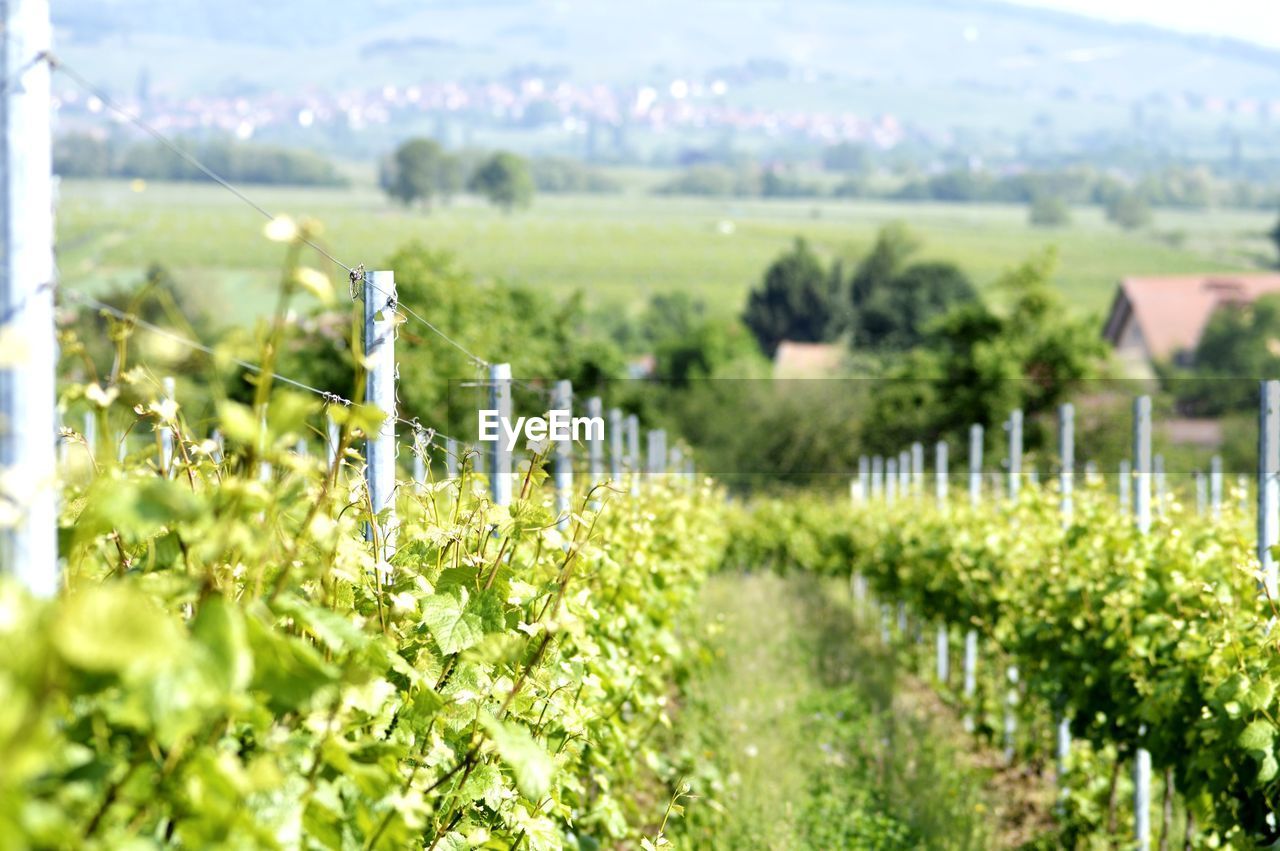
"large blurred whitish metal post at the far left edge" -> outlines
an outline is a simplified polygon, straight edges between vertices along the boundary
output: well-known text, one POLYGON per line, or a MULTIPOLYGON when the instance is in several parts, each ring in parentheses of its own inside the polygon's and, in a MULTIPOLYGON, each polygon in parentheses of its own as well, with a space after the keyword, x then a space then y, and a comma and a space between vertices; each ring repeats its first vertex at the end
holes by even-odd
POLYGON ((19 362, 0 369, 0 500, 18 507, 0 569, 37 596, 58 593, 58 344, 47 0, 5 0, 0 31, 0 333, 19 362), (12 489, 8 489, 12 488, 12 489))

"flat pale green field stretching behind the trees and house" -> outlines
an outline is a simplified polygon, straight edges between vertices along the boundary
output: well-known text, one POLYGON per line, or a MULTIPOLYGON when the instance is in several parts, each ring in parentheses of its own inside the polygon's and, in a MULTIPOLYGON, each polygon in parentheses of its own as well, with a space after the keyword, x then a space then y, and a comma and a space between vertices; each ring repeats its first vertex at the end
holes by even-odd
MULTIPOLYGON (((635 182, 634 182, 635 183, 635 182)), ((1069 228, 1027 224, 1012 205, 878 201, 671 198, 639 187, 613 196, 548 196, 504 215, 463 198, 430 215, 389 205, 372 188, 250 188, 271 211, 311 216, 348 265, 376 267, 403 243, 448 248, 474 271, 581 289, 591 303, 630 308, 650 293, 684 290, 736 312, 768 261, 796 235, 828 256, 856 258, 877 228, 905 220, 924 239, 922 257, 960 264, 979 285, 1046 246, 1057 246, 1059 283, 1078 308, 1101 312, 1129 274, 1248 269, 1263 262, 1266 212, 1157 211, 1149 230, 1125 233, 1094 209, 1069 228)), ((264 310, 283 258, 262 219, 206 184, 64 180, 58 211, 59 267, 72 288, 97 290, 165 265, 229 321, 264 310)), ((317 261, 319 262, 319 261, 317 261)))

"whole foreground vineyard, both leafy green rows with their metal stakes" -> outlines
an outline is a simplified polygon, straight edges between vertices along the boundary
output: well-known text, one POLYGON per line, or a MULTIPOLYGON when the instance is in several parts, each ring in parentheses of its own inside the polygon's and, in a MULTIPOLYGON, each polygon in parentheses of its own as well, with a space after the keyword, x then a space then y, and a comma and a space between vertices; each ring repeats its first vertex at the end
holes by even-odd
MULTIPOLYGON (((1078 468, 1064 406, 1043 482, 1023 470, 1015 411, 1000 476, 975 427, 964 480, 946 444, 933 473, 915 444, 864 458, 852 507, 731 502, 663 433, 641 457, 618 411, 608 439, 512 453, 276 375, 307 230, 276 220, 268 233, 289 243, 276 320, 257 363, 232 361, 253 402, 224 398, 207 434, 132 360, 159 331, 97 306, 115 362, 63 392, 86 417, 63 430, 60 590, 3 584, 6 847, 716 847, 741 831, 722 801, 748 791, 726 773, 724 733, 689 732, 716 705, 700 683, 724 664, 714 630, 695 627, 699 600, 714 575, 760 567, 817 577, 827 601, 813 612, 861 648, 823 669, 824 688, 887 653, 891 691, 928 685, 929 712, 963 720, 969 747, 1053 786, 1032 843, 1276 834, 1275 523, 1254 530, 1248 491, 1225 489, 1220 468, 1184 505, 1190 491, 1153 472, 1144 397, 1119 479, 1078 468), (403 458, 397 425, 412 439, 403 458)), ((389 276, 353 284, 364 398, 385 392, 394 410, 379 348, 416 314, 389 276)), ((63 343, 74 356, 74 337, 63 343)), ((544 390, 504 365, 481 384, 504 416, 513 386, 575 408, 566 383, 544 390)), ((1276 394, 1265 384, 1267 436, 1276 394)), ((1276 475, 1261 475, 1267 518, 1276 475)), ((808 700, 837 718, 865 700, 832 694, 808 700)), ((973 813, 932 836, 919 811, 895 820, 900 805, 878 796, 906 781, 886 779, 891 752, 865 750, 874 718, 860 736, 826 729, 847 752, 806 769, 828 778, 819 811, 844 801, 826 834, 804 822, 768 839, 777 827, 756 825, 739 842, 980 847, 973 813)))

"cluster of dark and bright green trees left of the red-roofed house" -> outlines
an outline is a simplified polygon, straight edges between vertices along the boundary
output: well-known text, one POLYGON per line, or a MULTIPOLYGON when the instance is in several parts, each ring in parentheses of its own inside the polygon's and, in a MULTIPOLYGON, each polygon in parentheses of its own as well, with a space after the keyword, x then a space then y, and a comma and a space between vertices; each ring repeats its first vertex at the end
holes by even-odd
MULTIPOLYGON (((1073 317, 1052 285, 1053 253, 996 282, 996 308, 959 267, 918 260, 919 250, 906 227, 886 227, 846 276, 844 264, 824 267, 797 239, 748 297, 742 321, 764 353, 782 340, 841 340, 863 356, 850 361, 854 371, 876 380, 847 385, 854 406, 818 404, 855 424, 837 427, 846 447, 896 452, 904 435, 960 439, 970 424, 992 425, 1014 407, 1029 417, 1051 411, 1102 374, 1097 328, 1073 317)), ((1039 439, 1033 433, 1029 445, 1039 439)))

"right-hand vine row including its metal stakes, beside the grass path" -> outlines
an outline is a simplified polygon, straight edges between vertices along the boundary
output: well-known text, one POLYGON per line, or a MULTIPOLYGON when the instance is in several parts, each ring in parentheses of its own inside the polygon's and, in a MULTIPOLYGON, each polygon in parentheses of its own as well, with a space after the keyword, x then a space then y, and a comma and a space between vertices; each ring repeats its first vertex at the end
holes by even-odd
MULTIPOLYGON (((1010 761, 1056 761, 1062 843, 1267 845, 1280 774, 1275 577, 1263 567, 1274 458, 1260 473, 1258 531, 1247 491, 1222 499, 1220 477, 1212 505, 1197 511, 1162 481, 1153 493, 1149 402, 1146 447, 1143 410, 1146 466, 1124 465, 1119 479, 1087 473, 1075 490, 1062 467, 1051 486, 1020 482, 1010 456, 1011 495, 984 500, 978 454, 968 499, 956 500, 945 448, 928 495, 904 453, 865 465, 855 489, 865 507, 852 514, 822 500, 769 503, 732 546, 850 582, 882 641, 929 669, 966 729, 1010 761)), ((1071 458, 1069 443, 1062 454, 1071 458)))

